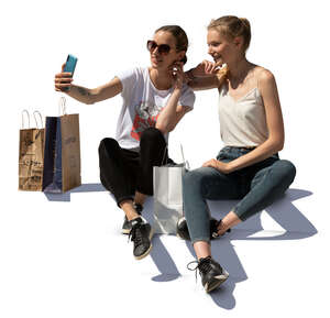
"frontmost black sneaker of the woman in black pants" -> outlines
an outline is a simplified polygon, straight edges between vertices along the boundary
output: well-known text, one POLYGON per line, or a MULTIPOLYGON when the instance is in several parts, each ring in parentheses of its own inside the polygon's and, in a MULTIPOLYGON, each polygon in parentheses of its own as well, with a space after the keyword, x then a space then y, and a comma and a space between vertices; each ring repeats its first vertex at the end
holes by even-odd
POLYGON ((136 260, 145 257, 152 250, 151 239, 153 237, 153 230, 150 223, 145 223, 142 218, 136 218, 131 221, 131 231, 129 239, 134 243, 133 254, 136 260))

